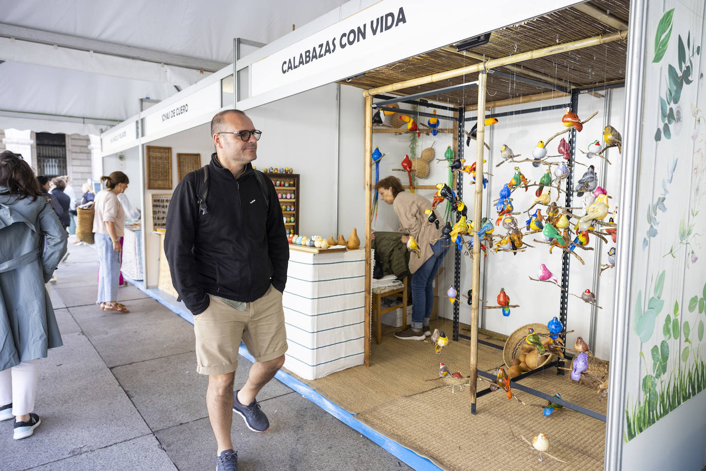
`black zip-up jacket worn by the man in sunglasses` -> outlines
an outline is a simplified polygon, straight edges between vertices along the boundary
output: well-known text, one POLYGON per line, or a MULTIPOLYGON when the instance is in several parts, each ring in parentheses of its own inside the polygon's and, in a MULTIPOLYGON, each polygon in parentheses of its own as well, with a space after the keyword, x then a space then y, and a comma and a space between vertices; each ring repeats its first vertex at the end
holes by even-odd
MULTIPOLYGON (((215 154, 208 165, 208 214, 198 210, 196 172, 177 185, 167 212, 164 254, 172 283, 192 314, 208 308, 208 294, 253 302, 270 283, 285 290, 289 244, 269 179, 267 209, 252 165, 235 179, 215 154)), ((203 186, 203 180, 201 181, 203 186)))

